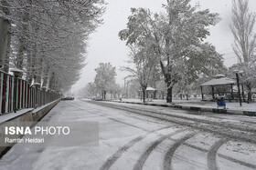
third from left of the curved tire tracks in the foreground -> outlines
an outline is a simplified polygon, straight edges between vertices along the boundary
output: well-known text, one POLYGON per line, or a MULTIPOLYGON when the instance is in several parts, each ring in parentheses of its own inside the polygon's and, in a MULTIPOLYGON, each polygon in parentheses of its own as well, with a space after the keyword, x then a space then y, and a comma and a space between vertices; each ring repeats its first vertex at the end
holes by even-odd
POLYGON ((187 139, 193 137, 194 135, 196 135, 196 133, 192 133, 192 134, 188 134, 185 135, 184 137, 182 137, 181 139, 177 140, 176 143, 174 145, 172 145, 166 152, 165 154, 165 158, 164 158, 164 170, 172 170, 172 159, 174 157, 174 154, 176 152, 176 149, 180 146, 183 145, 183 143, 185 141, 187 141, 187 139))

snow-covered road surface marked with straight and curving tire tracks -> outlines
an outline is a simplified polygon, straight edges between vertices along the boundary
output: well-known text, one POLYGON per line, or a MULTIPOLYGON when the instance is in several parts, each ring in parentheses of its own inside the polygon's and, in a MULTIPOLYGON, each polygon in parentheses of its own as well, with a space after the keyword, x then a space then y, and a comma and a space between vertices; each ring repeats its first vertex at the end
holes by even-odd
POLYGON ((43 119, 97 121, 99 146, 17 144, 0 169, 256 169, 255 117, 74 100, 43 119))

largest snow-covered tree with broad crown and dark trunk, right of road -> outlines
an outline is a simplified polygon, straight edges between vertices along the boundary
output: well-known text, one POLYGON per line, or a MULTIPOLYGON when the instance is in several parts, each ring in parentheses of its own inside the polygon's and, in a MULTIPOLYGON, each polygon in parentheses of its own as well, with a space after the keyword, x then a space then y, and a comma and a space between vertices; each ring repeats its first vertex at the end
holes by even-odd
POLYGON ((119 33, 127 45, 150 45, 154 50, 167 85, 167 103, 172 102, 177 82, 195 79, 195 75, 221 59, 212 45, 204 43, 208 26, 216 25, 219 15, 208 9, 197 10, 189 3, 190 0, 167 0, 166 12, 155 15, 148 9, 132 8, 127 28, 119 33))

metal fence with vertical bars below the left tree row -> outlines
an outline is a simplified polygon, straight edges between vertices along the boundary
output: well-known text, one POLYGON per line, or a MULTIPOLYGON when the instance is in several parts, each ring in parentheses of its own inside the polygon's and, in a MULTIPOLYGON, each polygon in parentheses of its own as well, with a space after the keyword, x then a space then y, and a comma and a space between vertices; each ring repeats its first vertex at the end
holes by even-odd
POLYGON ((60 94, 31 86, 26 80, 0 71, 0 115, 23 108, 37 108, 60 98, 60 94))

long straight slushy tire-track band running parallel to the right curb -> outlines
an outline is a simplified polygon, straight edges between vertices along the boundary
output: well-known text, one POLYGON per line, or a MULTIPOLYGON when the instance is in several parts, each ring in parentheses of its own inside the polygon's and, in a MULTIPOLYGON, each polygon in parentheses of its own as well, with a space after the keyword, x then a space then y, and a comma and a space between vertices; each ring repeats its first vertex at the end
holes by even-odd
POLYGON ((168 115, 164 113, 156 113, 155 111, 149 111, 144 109, 137 109, 137 108, 131 108, 127 106, 117 106, 117 105, 108 105, 103 103, 93 103, 88 102, 94 105, 101 105, 106 107, 111 107, 114 109, 124 110, 128 111, 137 115, 145 115, 148 117, 152 117, 155 119, 160 119, 168 122, 175 123, 177 125, 187 125, 199 130, 204 130, 210 133, 219 134, 222 136, 228 136, 229 138, 248 142, 252 144, 256 144, 256 133, 255 128, 254 129, 246 129, 244 125, 225 125, 220 124, 215 121, 209 121, 209 120, 202 120, 192 117, 185 117, 180 115, 168 115), (190 121, 190 122, 189 122, 190 121), (191 122, 193 121, 193 122, 191 122))

